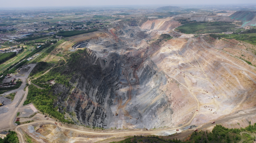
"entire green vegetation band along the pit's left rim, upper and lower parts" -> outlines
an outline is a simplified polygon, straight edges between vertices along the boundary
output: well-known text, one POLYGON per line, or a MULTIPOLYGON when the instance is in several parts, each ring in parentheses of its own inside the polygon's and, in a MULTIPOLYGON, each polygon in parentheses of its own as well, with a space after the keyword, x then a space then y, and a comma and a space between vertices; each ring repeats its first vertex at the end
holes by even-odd
POLYGON ((24 105, 34 103, 39 111, 47 113, 50 116, 57 118, 61 122, 74 124, 73 121, 64 118, 64 111, 57 111, 58 106, 54 107, 54 102, 57 101, 58 96, 58 94, 55 95, 53 93, 54 89, 52 88, 55 87, 55 85, 50 86, 45 83, 49 83, 50 80, 55 80, 56 83, 64 85, 67 88, 71 87, 69 81, 71 77, 75 74, 73 71, 75 70, 75 68, 72 69, 72 67, 79 68, 79 62, 77 61, 84 57, 86 54, 86 48, 84 50, 77 50, 76 52, 70 54, 70 59, 68 60, 67 64, 63 65, 64 63, 61 62, 59 66, 56 65, 55 68, 51 69, 45 75, 42 75, 35 80, 32 80, 32 83, 44 87, 45 89, 39 89, 34 85, 29 85, 27 100, 24 102, 24 105), (70 67, 73 72, 67 72, 67 69, 65 68, 66 66, 70 67))

